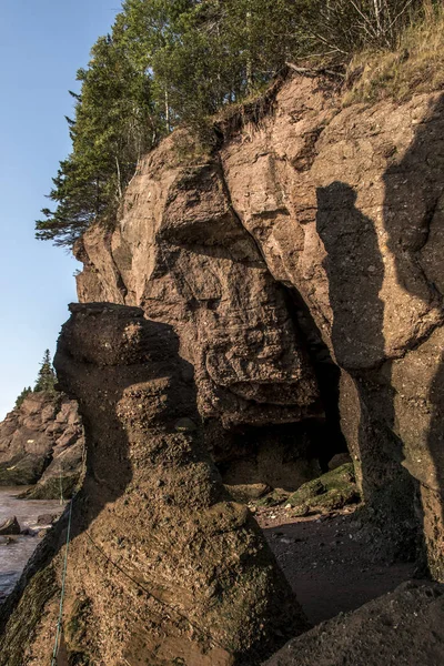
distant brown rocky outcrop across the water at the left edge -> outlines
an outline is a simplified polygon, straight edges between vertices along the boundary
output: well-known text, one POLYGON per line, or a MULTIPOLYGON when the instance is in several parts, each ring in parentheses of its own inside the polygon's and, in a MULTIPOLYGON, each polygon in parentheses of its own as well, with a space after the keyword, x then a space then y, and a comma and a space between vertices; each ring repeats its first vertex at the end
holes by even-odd
POLYGON ((0 423, 0 485, 38 484, 29 497, 51 500, 60 490, 68 497, 79 481, 83 445, 75 401, 31 393, 0 423))

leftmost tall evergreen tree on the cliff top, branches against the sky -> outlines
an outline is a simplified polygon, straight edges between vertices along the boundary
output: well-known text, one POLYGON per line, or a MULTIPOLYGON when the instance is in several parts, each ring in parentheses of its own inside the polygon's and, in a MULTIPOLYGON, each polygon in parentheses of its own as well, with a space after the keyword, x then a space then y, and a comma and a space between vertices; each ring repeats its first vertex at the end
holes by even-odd
POLYGON ((120 22, 100 38, 88 69, 78 71, 81 94, 73 97, 74 120, 67 119, 72 153, 60 162, 41 212, 37 238, 72 245, 97 219, 112 219, 141 155, 158 141, 150 77, 129 59, 120 22))

